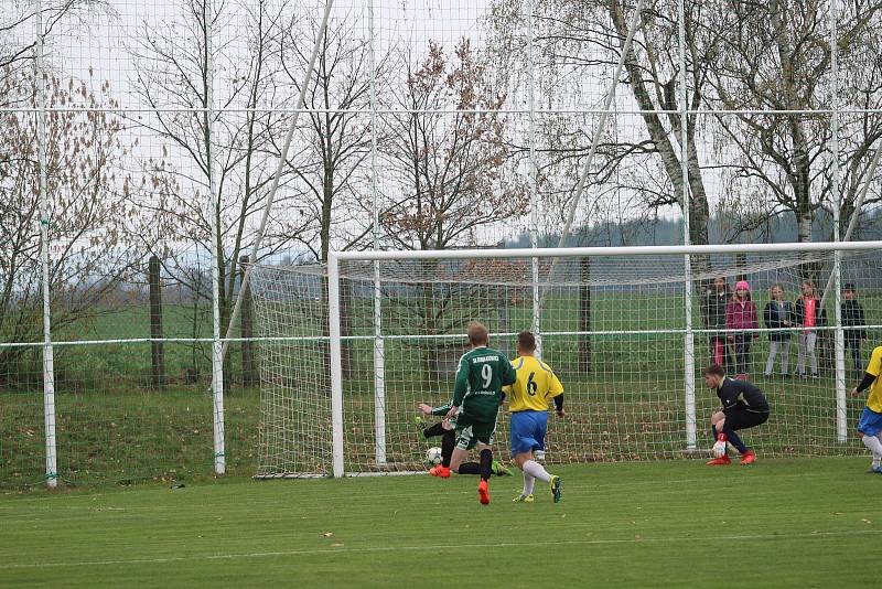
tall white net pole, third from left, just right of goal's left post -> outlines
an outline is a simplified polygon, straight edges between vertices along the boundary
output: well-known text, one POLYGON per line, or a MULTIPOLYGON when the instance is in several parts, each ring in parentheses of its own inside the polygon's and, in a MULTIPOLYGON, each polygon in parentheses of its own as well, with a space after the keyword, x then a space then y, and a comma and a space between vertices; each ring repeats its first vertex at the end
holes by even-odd
MULTIPOLYGON (((370 201, 374 208, 374 250, 379 249, 379 196, 377 192, 377 57, 374 0, 367 4, 370 35, 370 201)), ((386 463, 386 347, 383 341, 383 291, 379 261, 374 263, 374 435, 377 464, 386 463)))

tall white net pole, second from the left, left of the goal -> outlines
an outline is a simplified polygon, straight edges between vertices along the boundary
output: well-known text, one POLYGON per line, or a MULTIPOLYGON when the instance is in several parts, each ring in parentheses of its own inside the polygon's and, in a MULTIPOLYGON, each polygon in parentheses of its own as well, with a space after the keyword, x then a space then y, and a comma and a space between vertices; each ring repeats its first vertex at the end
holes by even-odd
POLYGON ((212 55, 212 0, 204 0, 205 35, 205 160, 208 165, 208 202, 212 215, 212 393, 214 397, 214 471, 227 470, 224 442, 224 347, 220 342, 220 268, 224 249, 220 244, 220 194, 217 192, 214 157, 214 56, 212 55))

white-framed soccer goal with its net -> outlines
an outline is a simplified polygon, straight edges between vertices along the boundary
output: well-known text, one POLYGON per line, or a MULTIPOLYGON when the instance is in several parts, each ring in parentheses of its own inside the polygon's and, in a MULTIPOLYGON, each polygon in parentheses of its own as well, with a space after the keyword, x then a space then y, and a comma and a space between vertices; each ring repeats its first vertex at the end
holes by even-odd
MULTIPOLYGON (((849 428, 862 400, 846 396, 854 335, 867 336, 861 362, 882 341, 882 243, 345 251, 326 266, 257 266, 252 296, 260 478, 423 470, 438 441, 423 438, 416 407, 449 400, 473 320, 512 357, 516 334, 534 330, 563 382, 568 415, 550 419, 549 462, 706 451, 719 401, 701 368, 714 361, 770 399, 768 424, 747 435, 757 451, 843 454, 860 451, 849 428), (727 324, 740 281, 755 324, 727 324), (846 283, 861 325, 842 317, 846 283), (811 297, 816 318, 797 317, 811 297)), ((507 438, 503 410, 501 456, 507 438)))

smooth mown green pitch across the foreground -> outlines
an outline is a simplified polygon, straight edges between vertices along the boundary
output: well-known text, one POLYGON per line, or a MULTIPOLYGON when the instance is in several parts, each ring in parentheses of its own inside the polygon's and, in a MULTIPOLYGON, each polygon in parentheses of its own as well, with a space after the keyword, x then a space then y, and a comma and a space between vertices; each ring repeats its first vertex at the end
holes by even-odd
POLYGON ((856 458, 519 476, 195 484, 0 499, 0 585, 848 587, 873 579, 882 476, 856 458))

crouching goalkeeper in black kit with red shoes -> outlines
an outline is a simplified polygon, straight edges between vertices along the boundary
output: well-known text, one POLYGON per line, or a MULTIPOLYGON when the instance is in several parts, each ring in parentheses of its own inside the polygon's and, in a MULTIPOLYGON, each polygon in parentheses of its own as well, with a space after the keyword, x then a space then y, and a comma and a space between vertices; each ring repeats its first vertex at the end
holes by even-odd
POLYGON ((741 452, 742 465, 752 464, 756 461, 756 454, 744 446, 736 431, 766 422, 768 401, 766 401, 765 395, 756 385, 747 381, 729 378, 719 364, 711 364, 704 368, 704 383, 717 393, 723 404, 723 410, 711 416, 711 429, 716 442, 713 445, 714 459, 708 462, 708 465, 732 463, 727 453, 727 443, 731 443, 741 452))

